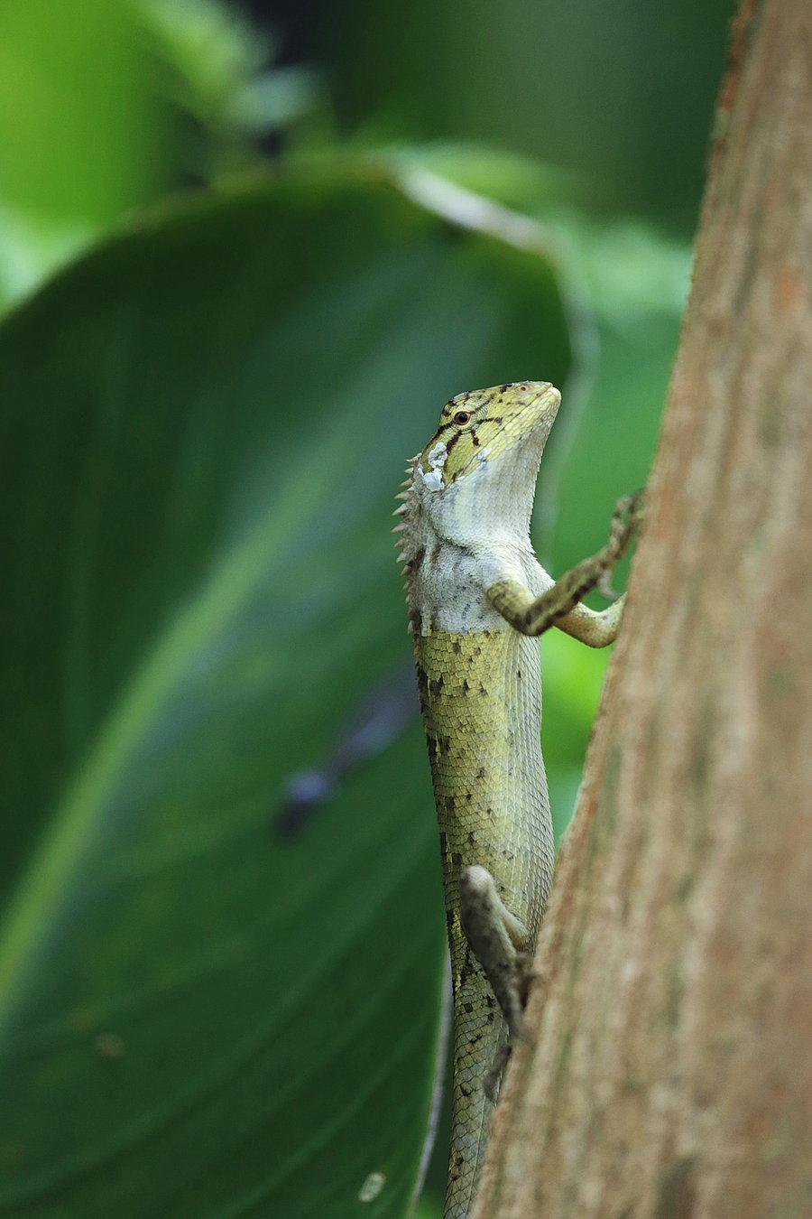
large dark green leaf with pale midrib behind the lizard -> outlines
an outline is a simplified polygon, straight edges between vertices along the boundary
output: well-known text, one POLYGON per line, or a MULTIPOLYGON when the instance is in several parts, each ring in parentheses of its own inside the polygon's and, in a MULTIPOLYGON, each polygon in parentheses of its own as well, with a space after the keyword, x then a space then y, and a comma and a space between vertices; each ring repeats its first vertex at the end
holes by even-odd
POLYGON ((416 724, 275 814, 407 664, 403 458, 567 360, 539 257, 329 171, 6 321, 0 1214, 404 1213, 443 969, 416 724))

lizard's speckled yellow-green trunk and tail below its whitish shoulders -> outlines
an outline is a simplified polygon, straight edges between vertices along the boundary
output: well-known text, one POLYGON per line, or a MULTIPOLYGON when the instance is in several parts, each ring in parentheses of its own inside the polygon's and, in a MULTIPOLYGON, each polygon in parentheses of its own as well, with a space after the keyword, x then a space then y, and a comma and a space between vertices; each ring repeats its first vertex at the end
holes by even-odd
POLYGON ((459 912, 464 868, 483 864, 532 953, 553 879, 553 825, 539 748, 538 642, 506 623, 415 640, 435 785, 454 987, 455 1118, 448 1204, 466 1214, 493 1106, 482 1087, 508 1029, 459 912))

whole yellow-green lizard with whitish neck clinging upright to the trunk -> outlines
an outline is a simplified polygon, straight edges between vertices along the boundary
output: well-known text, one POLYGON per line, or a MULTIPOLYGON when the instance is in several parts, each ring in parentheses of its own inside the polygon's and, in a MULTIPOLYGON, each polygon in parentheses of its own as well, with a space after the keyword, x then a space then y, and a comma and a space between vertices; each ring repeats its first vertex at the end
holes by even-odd
POLYGON ((607 578, 637 521, 635 497, 620 501, 609 542, 558 581, 536 560, 530 517, 560 401, 530 380, 453 397, 396 510, 454 993, 443 1219, 472 1206, 553 879, 536 636, 554 624, 592 647, 615 639, 623 599, 598 612, 581 597, 607 578))

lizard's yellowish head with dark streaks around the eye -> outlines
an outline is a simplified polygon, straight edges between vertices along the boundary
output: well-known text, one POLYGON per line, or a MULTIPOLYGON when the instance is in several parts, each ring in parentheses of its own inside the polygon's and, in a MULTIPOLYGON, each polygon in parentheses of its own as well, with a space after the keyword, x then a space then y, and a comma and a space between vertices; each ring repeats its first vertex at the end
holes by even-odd
POLYGON ((530 456, 527 450, 532 450, 541 458, 560 401, 549 382, 514 382, 458 394, 443 407, 415 477, 426 490, 442 492, 495 458, 509 460, 511 451, 521 449, 530 456))

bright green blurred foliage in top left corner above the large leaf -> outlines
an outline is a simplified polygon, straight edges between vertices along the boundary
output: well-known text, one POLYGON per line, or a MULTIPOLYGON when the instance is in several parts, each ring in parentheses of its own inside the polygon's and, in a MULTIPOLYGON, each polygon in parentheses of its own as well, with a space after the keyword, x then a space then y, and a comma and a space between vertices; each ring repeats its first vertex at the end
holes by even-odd
POLYGON ((215 0, 1 0, 0 306, 319 96, 215 0))

